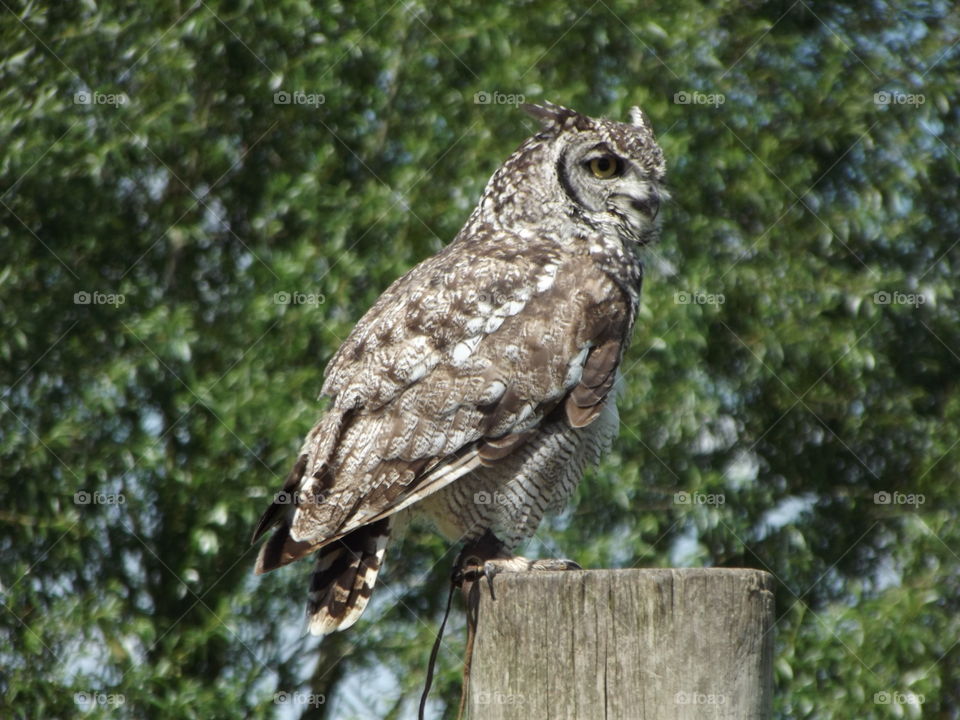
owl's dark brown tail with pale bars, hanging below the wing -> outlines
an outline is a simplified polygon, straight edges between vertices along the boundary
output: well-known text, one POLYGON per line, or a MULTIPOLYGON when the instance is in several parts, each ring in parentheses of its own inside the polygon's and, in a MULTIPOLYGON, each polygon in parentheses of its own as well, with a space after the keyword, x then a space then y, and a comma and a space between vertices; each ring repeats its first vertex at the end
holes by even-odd
POLYGON ((390 538, 390 519, 364 525, 317 552, 310 579, 310 634, 346 630, 363 614, 390 538))

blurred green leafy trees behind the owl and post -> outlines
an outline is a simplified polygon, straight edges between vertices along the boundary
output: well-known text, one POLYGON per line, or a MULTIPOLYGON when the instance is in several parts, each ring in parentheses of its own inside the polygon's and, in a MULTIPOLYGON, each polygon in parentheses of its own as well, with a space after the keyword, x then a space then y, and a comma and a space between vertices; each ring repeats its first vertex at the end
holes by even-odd
POLYGON ((319 642, 249 537, 523 96, 639 104, 673 194, 620 438, 524 550, 767 569, 778 718, 960 717, 951 3, 0 5, 0 715, 414 715, 456 548, 319 642))

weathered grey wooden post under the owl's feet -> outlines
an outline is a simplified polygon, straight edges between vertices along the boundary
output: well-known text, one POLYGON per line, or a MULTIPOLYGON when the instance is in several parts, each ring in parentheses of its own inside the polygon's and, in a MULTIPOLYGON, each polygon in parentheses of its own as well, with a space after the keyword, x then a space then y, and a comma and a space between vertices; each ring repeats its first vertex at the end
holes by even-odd
POLYGON ((480 588, 471 720, 769 720, 759 570, 502 573, 480 588))

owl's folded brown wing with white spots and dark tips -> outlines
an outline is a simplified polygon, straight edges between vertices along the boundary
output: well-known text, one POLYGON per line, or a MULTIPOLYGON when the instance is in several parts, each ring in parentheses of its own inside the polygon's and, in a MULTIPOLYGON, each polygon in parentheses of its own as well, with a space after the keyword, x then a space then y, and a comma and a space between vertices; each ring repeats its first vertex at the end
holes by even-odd
POLYGON ((327 368, 332 408, 284 484, 293 502, 274 503, 255 533, 281 525, 258 572, 496 463, 551 414, 573 427, 599 415, 631 302, 587 258, 515 240, 449 246, 357 324, 327 368))

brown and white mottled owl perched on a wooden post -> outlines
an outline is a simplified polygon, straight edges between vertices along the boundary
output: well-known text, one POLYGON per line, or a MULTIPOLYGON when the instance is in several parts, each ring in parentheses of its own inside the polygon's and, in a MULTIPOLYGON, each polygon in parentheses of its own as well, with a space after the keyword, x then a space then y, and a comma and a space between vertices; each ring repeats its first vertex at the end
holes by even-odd
POLYGON ((639 108, 626 123, 524 109, 540 131, 330 360, 329 409, 254 533, 273 530, 257 574, 315 556, 314 635, 357 621, 414 515, 487 573, 576 567, 511 550, 617 432, 637 253, 658 234, 665 164, 639 108))

